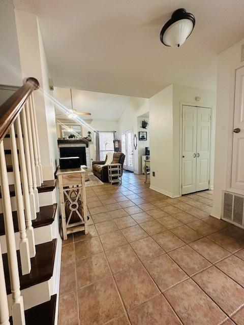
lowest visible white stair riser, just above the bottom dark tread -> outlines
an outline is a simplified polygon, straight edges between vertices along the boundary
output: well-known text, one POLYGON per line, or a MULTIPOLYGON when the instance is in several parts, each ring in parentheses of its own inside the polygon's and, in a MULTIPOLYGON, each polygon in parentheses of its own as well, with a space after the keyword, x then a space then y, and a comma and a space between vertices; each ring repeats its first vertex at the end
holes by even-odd
MULTIPOLYGON (((49 301, 51 298, 50 280, 38 283, 21 290, 21 296, 23 296, 24 310, 32 308, 49 301)), ((11 304, 12 295, 8 295, 9 313, 11 316, 11 304)))

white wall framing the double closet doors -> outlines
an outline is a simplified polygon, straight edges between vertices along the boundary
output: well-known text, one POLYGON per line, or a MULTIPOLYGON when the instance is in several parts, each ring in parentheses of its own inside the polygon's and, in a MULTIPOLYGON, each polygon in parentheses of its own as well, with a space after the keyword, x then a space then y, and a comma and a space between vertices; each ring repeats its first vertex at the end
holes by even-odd
POLYGON ((211 90, 199 89, 188 86, 173 85, 173 161, 174 161, 174 196, 179 196, 180 180, 180 115, 181 103, 195 106, 210 106, 211 116, 211 166, 210 166, 210 185, 214 186, 214 148, 215 148, 215 121, 216 121, 216 92, 211 90), (196 101, 196 96, 201 97, 196 101))

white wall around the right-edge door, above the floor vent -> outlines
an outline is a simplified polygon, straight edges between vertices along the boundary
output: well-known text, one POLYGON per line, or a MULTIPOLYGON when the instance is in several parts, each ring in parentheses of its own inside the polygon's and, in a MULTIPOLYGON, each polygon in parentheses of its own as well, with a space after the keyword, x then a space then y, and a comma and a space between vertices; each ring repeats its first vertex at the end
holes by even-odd
POLYGON ((215 189, 211 213, 218 218, 221 217, 222 191, 231 186, 235 69, 244 66, 241 62, 242 44, 244 39, 218 55, 215 189))

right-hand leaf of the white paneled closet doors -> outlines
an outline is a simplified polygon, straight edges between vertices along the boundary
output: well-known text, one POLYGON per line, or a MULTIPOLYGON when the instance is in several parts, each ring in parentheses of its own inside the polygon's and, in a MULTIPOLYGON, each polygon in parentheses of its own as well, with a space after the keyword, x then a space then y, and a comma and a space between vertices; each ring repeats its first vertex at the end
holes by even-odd
POLYGON ((211 109, 197 108, 197 171, 196 190, 209 188, 211 143, 211 109))

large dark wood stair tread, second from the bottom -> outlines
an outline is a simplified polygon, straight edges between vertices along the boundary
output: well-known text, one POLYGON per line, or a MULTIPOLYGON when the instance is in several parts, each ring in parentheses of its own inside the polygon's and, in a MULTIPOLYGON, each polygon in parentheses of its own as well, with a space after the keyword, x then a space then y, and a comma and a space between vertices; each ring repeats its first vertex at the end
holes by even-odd
MULTIPOLYGON (((31 273, 22 275, 19 250, 17 250, 18 269, 20 289, 23 290, 38 283, 48 281, 53 274, 55 251, 56 251, 57 239, 53 239, 51 242, 36 245, 36 256, 31 258, 32 270, 31 273)), ((9 266, 8 266, 8 254, 3 256, 4 263, 4 275, 6 281, 7 294, 11 294, 10 278, 9 278, 9 266)))

